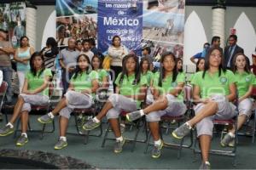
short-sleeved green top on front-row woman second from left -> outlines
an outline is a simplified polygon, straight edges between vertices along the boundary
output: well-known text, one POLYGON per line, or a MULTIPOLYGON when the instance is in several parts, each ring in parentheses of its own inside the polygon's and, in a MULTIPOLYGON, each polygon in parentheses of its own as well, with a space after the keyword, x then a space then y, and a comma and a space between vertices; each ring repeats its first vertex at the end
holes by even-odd
POLYGON ((74 90, 76 92, 81 92, 85 89, 92 88, 92 81, 99 79, 98 73, 96 71, 90 71, 89 73, 78 73, 78 76, 76 78, 74 78, 74 76, 75 75, 73 75, 70 82, 73 84, 74 90))

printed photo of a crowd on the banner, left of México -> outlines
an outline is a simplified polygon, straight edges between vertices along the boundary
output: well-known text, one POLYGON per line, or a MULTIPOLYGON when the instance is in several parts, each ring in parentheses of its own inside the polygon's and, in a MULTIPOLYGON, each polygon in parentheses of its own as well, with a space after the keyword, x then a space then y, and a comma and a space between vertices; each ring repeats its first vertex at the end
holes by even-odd
POLYGON ((67 46, 69 37, 96 39, 96 14, 73 15, 56 18, 56 38, 59 46, 67 46))

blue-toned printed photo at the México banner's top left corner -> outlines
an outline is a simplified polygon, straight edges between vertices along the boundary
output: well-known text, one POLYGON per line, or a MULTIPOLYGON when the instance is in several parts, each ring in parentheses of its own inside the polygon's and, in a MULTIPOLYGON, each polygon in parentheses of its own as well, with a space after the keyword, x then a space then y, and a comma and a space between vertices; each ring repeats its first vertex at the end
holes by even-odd
POLYGON ((58 17, 74 14, 96 14, 97 3, 96 0, 57 0, 56 15, 58 17))

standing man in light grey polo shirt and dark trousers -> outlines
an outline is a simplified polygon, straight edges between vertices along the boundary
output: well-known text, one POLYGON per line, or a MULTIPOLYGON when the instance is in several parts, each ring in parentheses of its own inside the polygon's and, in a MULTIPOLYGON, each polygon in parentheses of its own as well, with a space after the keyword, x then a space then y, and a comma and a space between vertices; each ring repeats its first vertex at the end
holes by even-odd
POLYGON ((67 48, 61 50, 60 53, 60 64, 62 68, 62 83, 63 83, 63 92, 66 94, 68 88, 68 82, 73 76, 73 71, 75 69, 77 58, 79 56, 79 51, 76 50, 76 40, 73 37, 70 37, 67 41, 67 48))

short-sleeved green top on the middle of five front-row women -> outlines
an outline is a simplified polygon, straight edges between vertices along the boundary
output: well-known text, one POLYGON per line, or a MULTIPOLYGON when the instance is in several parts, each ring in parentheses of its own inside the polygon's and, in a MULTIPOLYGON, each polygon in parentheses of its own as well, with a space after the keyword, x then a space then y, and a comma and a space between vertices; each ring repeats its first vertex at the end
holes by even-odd
MULTIPOLYGON (((135 79, 135 74, 132 74, 130 76, 124 76, 123 81, 119 83, 120 77, 122 73, 119 73, 119 76, 115 80, 115 84, 119 87, 120 89, 120 94, 122 95, 137 95, 140 94, 140 89, 142 86, 147 85, 147 79, 146 77, 141 77, 140 82, 137 83, 136 85, 133 83, 135 79)), ((142 103, 141 100, 136 100, 137 102, 137 108, 140 108, 140 105, 142 103)))

